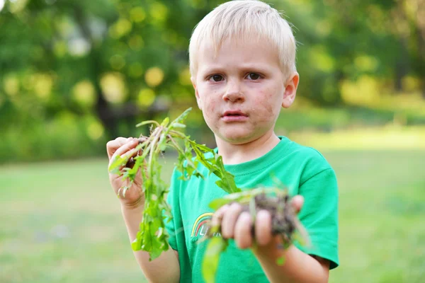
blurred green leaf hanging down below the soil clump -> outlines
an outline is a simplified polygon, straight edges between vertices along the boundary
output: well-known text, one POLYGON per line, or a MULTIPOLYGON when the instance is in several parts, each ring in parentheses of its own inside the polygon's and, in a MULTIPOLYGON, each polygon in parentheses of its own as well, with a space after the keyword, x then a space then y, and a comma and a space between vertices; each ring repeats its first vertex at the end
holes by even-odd
POLYGON ((217 273, 220 254, 226 250, 228 245, 228 241, 222 237, 213 237, 210 239, 202 262, 202 275, 205 282, 215 283, 215 274, 217 273))

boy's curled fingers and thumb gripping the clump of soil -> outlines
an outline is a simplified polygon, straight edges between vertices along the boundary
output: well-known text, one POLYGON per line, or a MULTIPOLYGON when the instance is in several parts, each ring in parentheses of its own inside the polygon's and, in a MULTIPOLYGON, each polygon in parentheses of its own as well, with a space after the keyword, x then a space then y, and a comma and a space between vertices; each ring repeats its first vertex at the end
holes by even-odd
MULTIPOLYGON (((295 212, 300 212, 304 198, 300 195, 291 200, 295 212)), ((242 212, 242 206, 237 203, 226 204, 212 216, 212 226, 220 225, 223 238, 234 238, 239 248, 252 248, 254 241, 257 248, 273 245, 276 247, 280 237, 271 233, 271 214, 261 210, 256 215, 255 237, 251 235, 252 219, 249 212, 242 212)))

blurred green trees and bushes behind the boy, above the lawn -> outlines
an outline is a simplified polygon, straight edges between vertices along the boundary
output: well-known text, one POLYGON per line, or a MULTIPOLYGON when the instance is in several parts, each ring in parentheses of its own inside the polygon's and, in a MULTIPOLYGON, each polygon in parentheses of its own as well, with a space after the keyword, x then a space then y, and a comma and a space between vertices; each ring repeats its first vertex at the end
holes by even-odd
MULTIPOLYGON (((188 40, 219 0, 0 1, 0 162, 96 156, 193 106, 188 40)), ((425 122, 424 0, 269 1, 300 87, 281 133, 425 122)), ((188 132, 212 145, 200 111, 188 132)))

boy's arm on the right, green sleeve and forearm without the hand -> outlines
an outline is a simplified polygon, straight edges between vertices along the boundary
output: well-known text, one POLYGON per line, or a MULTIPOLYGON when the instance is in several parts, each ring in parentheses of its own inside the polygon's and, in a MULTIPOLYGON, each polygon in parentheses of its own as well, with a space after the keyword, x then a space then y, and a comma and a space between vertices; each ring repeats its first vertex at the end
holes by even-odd
POLYGON ((280 250, 276 242, 271 241, 254 250, 271 282, 281 282, 282 278, 288 282, 328 282, 329 270, 339 262, 336 175, 331 168, 316 168, 306 175, 298 189, 303 201, 295 205, 295 209, 300 212, 298 216, 309 233, 312 246, 297 248, 292 245, 288 250, 280 250), (280 255, 285 256, 283 266, 276 265, 280 255))

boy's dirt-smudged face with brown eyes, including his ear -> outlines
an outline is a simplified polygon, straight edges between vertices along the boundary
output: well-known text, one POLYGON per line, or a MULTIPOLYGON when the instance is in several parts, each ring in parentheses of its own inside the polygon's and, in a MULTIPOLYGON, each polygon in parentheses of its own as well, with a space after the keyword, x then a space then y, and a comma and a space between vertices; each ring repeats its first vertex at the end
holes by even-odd
POLYGON ((201 45, 192 77, 205 122, 216 137, 231 144, 273 132, 280 108, 288 108, 295 98, 297 74, 288 81, 274 48, 241 40, 226 40, 217 56, 211 45, 201 45))

